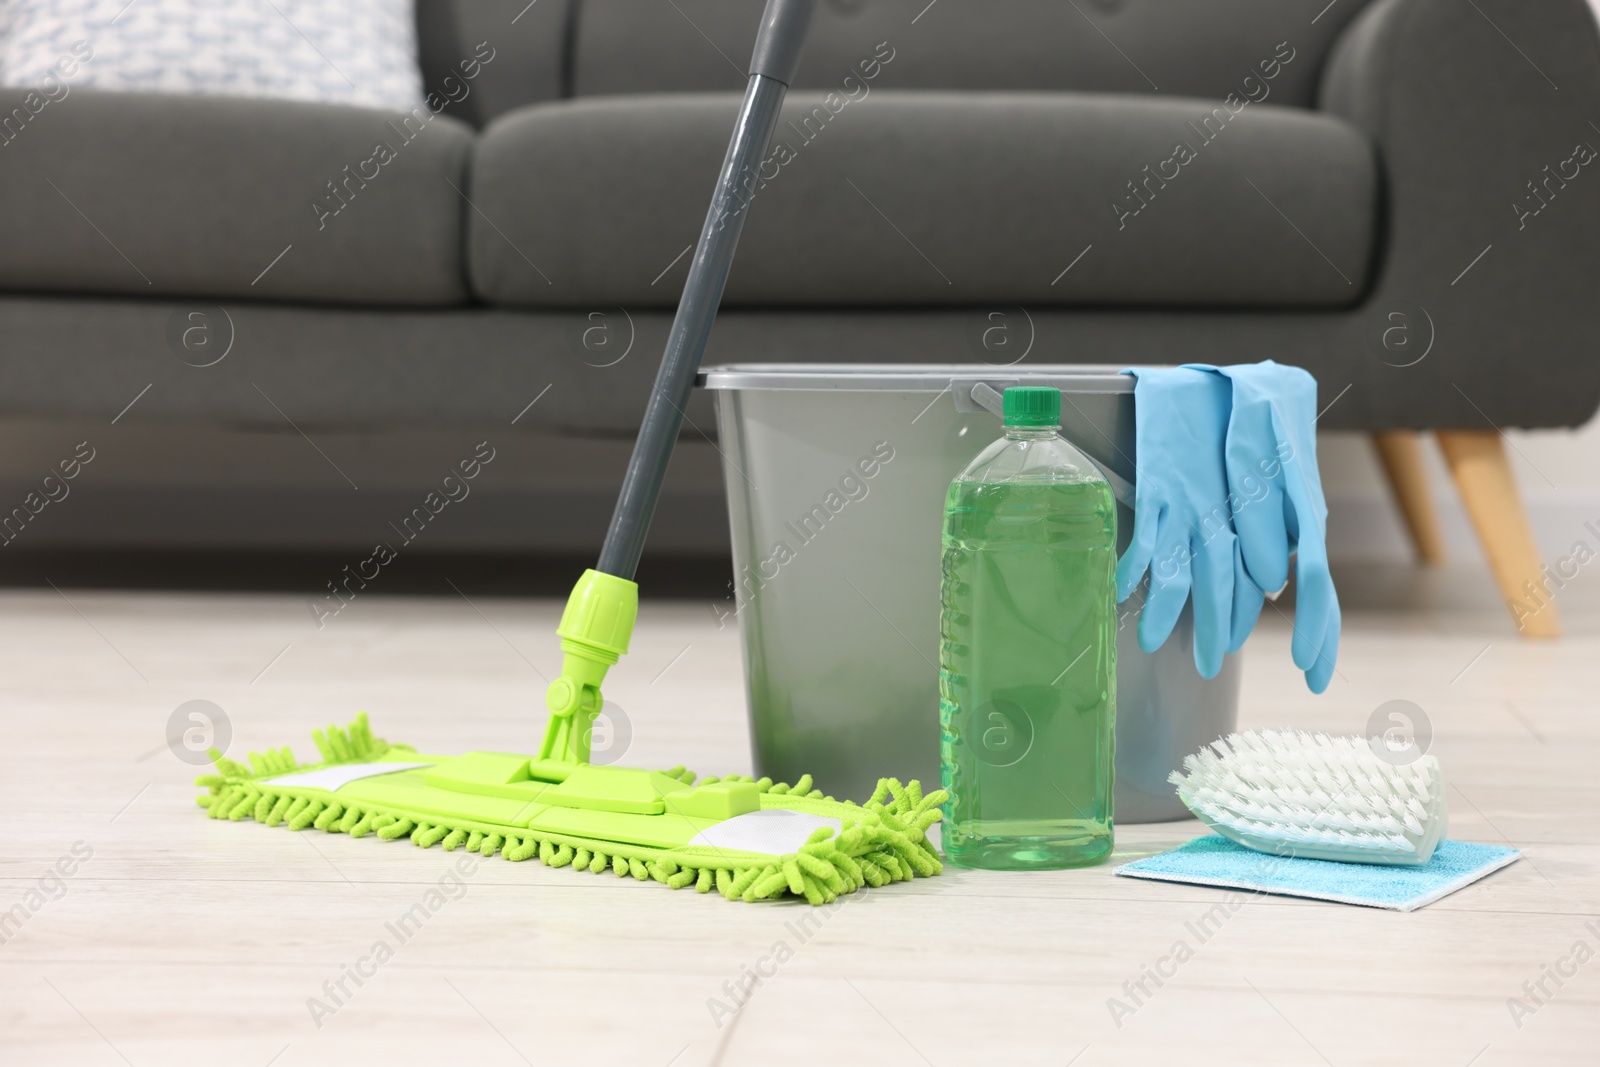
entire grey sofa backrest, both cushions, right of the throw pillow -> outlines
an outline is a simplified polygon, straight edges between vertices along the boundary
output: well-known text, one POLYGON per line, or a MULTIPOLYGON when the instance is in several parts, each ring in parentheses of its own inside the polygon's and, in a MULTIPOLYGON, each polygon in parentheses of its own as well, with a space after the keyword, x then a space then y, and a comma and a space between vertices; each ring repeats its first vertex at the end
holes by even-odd
MULTIPOLYGON (((893 88, 1238 93, 1309 107, 1334 38, 1368 3, 821 0, 795 88, 838 88, 886 45, 893 88)), ((762 6, 418 0, 422 77, 478 126, 565 96, 739 90, 762 6)))

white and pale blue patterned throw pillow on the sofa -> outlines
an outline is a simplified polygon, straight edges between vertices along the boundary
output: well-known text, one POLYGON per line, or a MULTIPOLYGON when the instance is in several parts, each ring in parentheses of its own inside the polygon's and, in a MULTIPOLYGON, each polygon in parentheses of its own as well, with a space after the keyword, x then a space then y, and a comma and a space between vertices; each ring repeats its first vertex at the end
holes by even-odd
POLYGON ((59 82, 411 110, 416 11, 411 0, 0 0, 0 85, 59 82))

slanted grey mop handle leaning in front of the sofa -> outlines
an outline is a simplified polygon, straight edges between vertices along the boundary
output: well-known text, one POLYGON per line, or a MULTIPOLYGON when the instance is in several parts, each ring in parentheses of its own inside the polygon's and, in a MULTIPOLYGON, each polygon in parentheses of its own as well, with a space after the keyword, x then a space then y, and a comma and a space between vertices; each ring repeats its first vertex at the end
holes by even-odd
POLYGON ((690 277, 683 283, 672 333, 667 334, 656 386, 638 427, 638 440, 634 442, 634 456, 622 477, 616 510, 611 512, 600 561, 595 565, 595 569, 606 574, 632 581, 638 569, 650 520, 661 498, 661 483, 672 461, 672 446, 683 427, 683 408, 694 389, 701 357, 706 355, 717 306, 722 304, 722 291, 733 267, 733 253, 739 246, 744 218, 755 197, 757 174, 778 126, 784 93, 800 62, 800 48, 814 8, 816 0, 766 0, 755 54, 750 58, 750 85, 717 176, 717 190, 690 262, 690 277))

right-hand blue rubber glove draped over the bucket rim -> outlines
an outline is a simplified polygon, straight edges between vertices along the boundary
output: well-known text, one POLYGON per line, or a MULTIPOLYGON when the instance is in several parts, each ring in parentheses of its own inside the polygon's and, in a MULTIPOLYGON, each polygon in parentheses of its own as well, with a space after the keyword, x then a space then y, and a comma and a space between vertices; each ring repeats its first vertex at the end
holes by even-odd
POLYGON ((1341 616, 1328 574, 1328 504, 1317 472, 1317 379, 1272 360, 1190 366, 1232 381, 1226 453, 1240 555, 1254 585, 1277 592, 1288 582, 1294 552, 1290 651, 1310 691, 1322 693, 1339 656, 1341 616))

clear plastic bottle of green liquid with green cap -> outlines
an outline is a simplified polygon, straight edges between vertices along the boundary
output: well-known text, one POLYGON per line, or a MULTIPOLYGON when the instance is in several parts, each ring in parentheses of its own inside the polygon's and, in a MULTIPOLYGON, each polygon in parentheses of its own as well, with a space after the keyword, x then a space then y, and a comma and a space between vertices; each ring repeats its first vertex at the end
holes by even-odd
POLYGON ((1080 867, 1112 849, 1117 509, 1059 424, 1059 390, 1006 389, 1005 437, 946 496, 942 841, 960 867, 1080 867))

